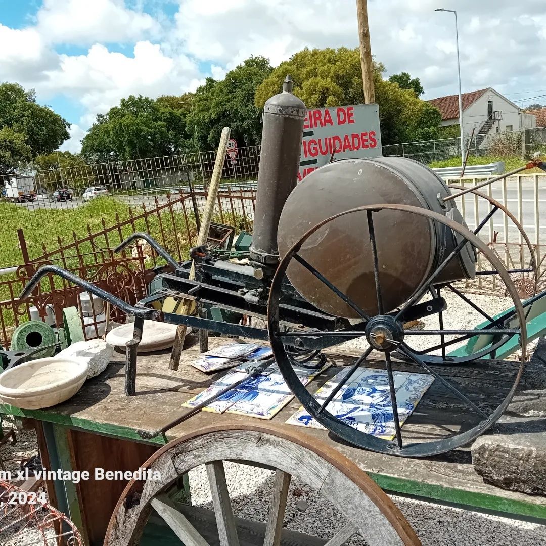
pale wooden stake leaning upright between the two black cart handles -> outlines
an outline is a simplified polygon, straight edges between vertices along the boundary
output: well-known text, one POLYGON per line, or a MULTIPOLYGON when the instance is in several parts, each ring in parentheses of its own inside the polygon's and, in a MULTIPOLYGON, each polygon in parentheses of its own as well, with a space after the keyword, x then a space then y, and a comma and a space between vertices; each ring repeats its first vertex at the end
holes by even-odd
MULTIPOLYGON (((216 195, 220 187, 220 180, 222 178, 222 169, 224 167, 225 155, 228 151, 228 140, 230 135, 229 127, 224 127, 222 130, 222 136, 220 137, 220 144, 218 145, 218 152, 216 153, 216 161, 214 163, 214 170, 212 171, 212 178, 209 186, 209 194, 206 198, 205 210, 201 217, 201 225, 199 226, 199 234, 197 236, 197 244, 195 246, 201 246, 206 244, 206 240, 209 236, 210 224, 212 222, 212 213, 216 205, 216 195)), ((195 264, 192 264, 192 269, 189 271, 189 279, 195 278, 195 264)), ((180 314, 189 314, 191 310, 192 302, 190 300, 184 300, 180 308, 180 314)), ((184 346, 184 340, 186 339, 186 325, 181 324, 176 330, 176 337, 173 344, 173 351, 171 352, 171 358, 169 362, 169 370, 178 370, 180 364, 180 355, 182 354, 182 348, 184 346)))

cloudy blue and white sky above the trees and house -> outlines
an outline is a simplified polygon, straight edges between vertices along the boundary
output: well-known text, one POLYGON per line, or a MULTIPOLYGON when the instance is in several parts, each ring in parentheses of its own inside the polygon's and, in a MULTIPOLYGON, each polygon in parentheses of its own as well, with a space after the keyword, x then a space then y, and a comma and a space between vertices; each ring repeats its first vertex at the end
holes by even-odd
MULTIPOLYGON (((71 124, 77 151, 122 97, 181 94, 250 55, 276 64, 305 46, 358 45, 355 0, 0 0, 0 81, 35 88, 71 124)), ((546 2, 369 0, 372 52, 406 70, 426 98, 494 87, 518 104, 546 90, 546 2)), ((544 91, 546 93, 546 91, 544 91)), ((528 100, 527 103, 534 102, 528 100)), ((544 101, 543 101, 544 102, 544 101)))

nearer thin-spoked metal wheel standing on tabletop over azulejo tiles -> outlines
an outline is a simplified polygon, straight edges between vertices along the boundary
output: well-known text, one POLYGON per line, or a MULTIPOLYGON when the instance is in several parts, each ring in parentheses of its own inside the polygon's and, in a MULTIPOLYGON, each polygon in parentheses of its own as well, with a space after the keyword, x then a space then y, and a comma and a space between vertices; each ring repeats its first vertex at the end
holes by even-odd
MULTIPOLYGON (((355 249, 355 252, 357 251, 358 249, 355 249)), ((411 264, 408 264, 408 266, 411 267, 411 264)), ((354 290, 354 287, 350 288, 354 290)), ((347 291, 348 290, 346 290, 346 292, 347 291)), ((288 387, 292 389, 293 393, 298 397, 310 416, 343 440, 379 453, 416 457, 429 456, 447 452, 473 440, 473 438, 482 434, 495 423, 502 412, 505 411, 517 388, 525 361, 525 314, 511 278, 501 261, 491 252, 483 241, 478 239, 478 237, 464 227, 464 225, 436 212, 407 205, 382 204, 358 207, 357 209, 348 210, 327 218, 308 230, 286 253, 277 269, 270 292, 268 328, 271 347, 282 375, 287 382, 288 387), (382 256, 385 256, 385 254, 382 254, 382 248, 391 244, 391 234, 384 232, 376 233, 373 223, 374 217, 377 218, 377 216, 382 213, 388 213, 389 211, 396 211, 399 215, 417 215, 428 219, 430 222, 443 224, 443 227, 451 230, 450 236, 453 236, 456 242, 454 250, 450 252, 447 257, 444 256, 438 260, 440 263, 436 263, 431 268, 425 280, 420 284, 417 290, 414 291, 410 299, 396 309, 384 308, 383 305, 383 301, 388 300, 388 294, 385 294, 382 290, 382 281, 386 276, 392 286, 392 279, 389 278, 389 271, 385 265, 385 263, 387 263, 386 260, 382 263, 382 256), (300 255, 300 253, 305 251, 306 241, 312 238, 309 243, 310 247, 316 247, 316 241, 321 239, 323 233, 328 233, 329 229, 335 229, 331 223, 337 218, 346 215, 366 215, 367 217, 368 233, 363 233, 362 240, 363 246, 366 246, 366 251, 369 252, 371 256, 372 263, 370 264, 370 269, 372 271, 366 272, 365 275, 363 274, 363 278, 371 278, 373 284, 372 286, 365 285, 361 287, 360 293, 362 290, 368 290, 370 293, 373 292, 373 294, 375 294, 377 314, 369 315, 363 311, 355 304, 354 300, 346 295, 346 293, 343 293, 340 288, 334 286, 334 284, 324 276, 323 272, 317 271, 313 264, 306 262, 300 255), (445 305, 440 296, 438 296, 438 286, 435 285, 435 279, 450 266, 452 260, 458 257, 458 254, 463 248, 466 247, 468 249, 467 245, 470 245, 476 251, 482 252, 494 266, 495 270, 498 272, 498 276, 506 284, 507 290, 511 295, 514 312, 510 314, 509 320, 508 317, 501 317, 496 320, 489 317, 491 318, 491 324, 488 328, 446 329, 443 327, 442 321, 442 313, 444 312, 445 305), (312 275, 316 280, 327 286, 338 298, 340 298, 340 300, 345 302, 347 306, 351 307, 352 310, 359 314, 361 321, 357 324, 353 324, 351 328, 336 331, 282 333, 279 328, 278 306, 281 297, 280 286, 283 282, 284 275, 292 264, 298 265, 300 270, 301 268, 305 268, 310 276, 312 275), (429 294, 434 296, 434 298, 430 300, 430 303, 429 301, 419 303, 424 296, 429 294), (425 315, 437 313, 440 328, 435 330, 405 330, 403 324, 406 322, 406 318, 412 313, 414 315, 416 309, 419 309, 419 311, 425 315), (509 322, 512 324, 509 324, 509 322), (419 336, 426 336, 426 339, 436 339, 440 341, 439 345, 432 348, 441 351, 442 354, 440 354, 439 357, 436 357, 435 355, 430 355, 426 349, 420 352, 416 349, 412 349, 408 345, 407 340, 411 337, 418 338, 419 336), (514 377, 510 377, 509 381, 507 381, 507 384, 511 386, 506 389, 506 392, 503 392, 501 400, 497 399, 498 403, 496 403, 496 401, 486 401, 486 403, 484 403, 479 396, 481 393, 464 393, 464 389, 460 386, 456 377, 444 377, 449 375, 448 370, 451 368, 451 366, 444 365, 446 361, 445 351, 447 346, 454 345, 454 343, 461 343, 468 339, 483 340, 486 336, 490 336, 490 339, 488 338, 488 346, 482 350, 478 350, 470 357, 458 359, 458 361, 453 364, 464 364, 469 360, 480 358, 483 354, 491 353, 495 347, 512 340, 514 336, 518 336, 521 345, 521 359, 517 369, 513 370, 514 377), (339 380, 335 385, 335 388, 332 388, 329 391, 325 399, 315 399, 299 381, 286 354, 284 344, 293 342, 296 346, 320 346, 326 348, 339 345, 339 343, 357 337, 365 337, 367 343, 369 343, 369 347, 359 358, 354 360, 354 363, 350 366, 345 377, 339 380), (366 359, 369 359, 374 350, 381 352, 384 355, 385 369, 388 378, 388 392, 383 394, 388 400, 387 406, 390 411, 390 419, 393 421, 395 441, 385 440, 367 434, 367 432, 359 429, 358 417, 355 416, 355 412, 358 413, 358 411, 362 411, 363 414, 367 413, 368 415, 371 413, 372 420, 375 419, 376 416, 373 415, 374 408, 372 407, 372 403, 370 403, 369 409, 367 410, 359 410, 358 407, 352 408, 352 415, 350 417, 347 416, 346 413, 343 413, 343 411, 334 413, 329 411, 329 409, 333 407, 330 406, 330 403, 332 402, 334 405, 336 402, 342 401, 343 396, 345 396, 349 390, 354 392, 355 389, 363 389, 362 385, 353 385, 352 381, 355 377, 355 373, 359 372, 362 367, 370 366, 366 363, 366 359), (409 361, 413 365, 412 369, 414 371, 424 372, 429 376, 434 377, 435 383, 439 388, 441 387, 444 393, 446 393, 448 399, 451 398, 453 404, 459 404, 465 408, 466 411, 463 410, 465 411, 465 414, 464 418, 461 417, 461 423, 450 424, 449 427, 446 427, 446 434, 441 437, 435 437, 434 440, 431 441, 423 441, 422 437, 416 438, 415 436, 404 440, 401 432, 399 408, 397 407, 397 387, 395 385, 395 374, 393 371, 394 367, 398 365, 394 361, 396 354, 402 355, 409 361), (437 366, 437 364, 440 364, 440 366, 437 366), (418 370, 415 370, 415 367, 417 367, 418 370), (444 370, 446 370, 446 372, 444 372, 444 370)), ((370 385, 370 389, 373 390, 373 388, 374 385, 370 385)), ((365 395, 370 394, 366 393, 365 388, 364 391, 365 395)), ((385 418, 384 407, 383 413, 377 418, 385 418)), ((362 429, 364 429, 364 427, 362 429)), ((379 430, 381 430, 381 428, 379 428, 379 430)), ((428 438, 425 437, 424 440, 428 440, 428 438)))

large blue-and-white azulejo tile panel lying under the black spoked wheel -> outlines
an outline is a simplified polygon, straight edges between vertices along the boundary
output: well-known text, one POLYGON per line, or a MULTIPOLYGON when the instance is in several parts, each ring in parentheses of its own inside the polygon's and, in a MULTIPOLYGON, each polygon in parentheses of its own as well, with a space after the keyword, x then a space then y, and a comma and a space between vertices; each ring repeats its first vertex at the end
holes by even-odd
MULTIPOLYGON (((314 395, 321 402, 342 381, 349 370, 342 370, 321 387, 314 395)), ((417 403, 434 381, 424 373, 393 372, 396 389, 396 403, 400 425, 411 415, 417 403)), ((387 371, 363 368, 356 370, 349 381, 340 389, 327 410, 343 422, 366 434, 385 440, 395 437, 393 410, 390 405, 389 380, 387 371)), ((323 426, 300 408, 287 423, 298 426, 320 428, 323 426)))

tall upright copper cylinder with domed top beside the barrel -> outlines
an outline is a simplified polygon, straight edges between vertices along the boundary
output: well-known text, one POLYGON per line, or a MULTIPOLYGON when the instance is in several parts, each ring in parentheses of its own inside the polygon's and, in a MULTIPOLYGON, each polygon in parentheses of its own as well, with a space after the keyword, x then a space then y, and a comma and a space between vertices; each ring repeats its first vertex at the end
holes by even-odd
POLYGON ((282 93, 264 105, 262 153, 258 171, 251 257, 264 265, 278 264, 277 228, 282 207, 298 182, 306 107, 292 94, 286 76, 282 93))

